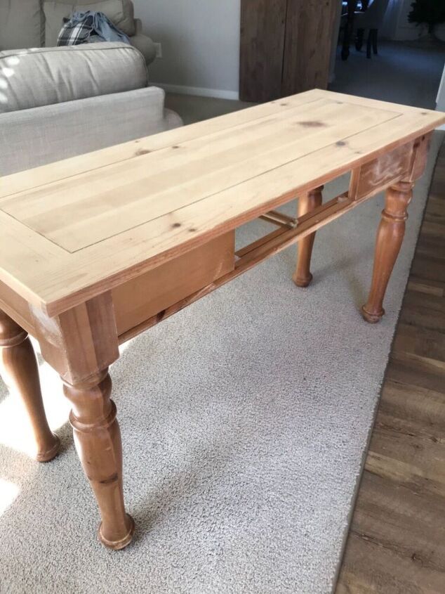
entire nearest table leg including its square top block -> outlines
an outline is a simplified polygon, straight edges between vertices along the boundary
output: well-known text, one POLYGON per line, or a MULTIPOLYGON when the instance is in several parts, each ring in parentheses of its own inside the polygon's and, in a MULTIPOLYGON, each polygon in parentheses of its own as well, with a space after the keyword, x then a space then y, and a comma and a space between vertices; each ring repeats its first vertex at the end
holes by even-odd
POLYGON ((102 523, 99 539, 112 549, 130 543, 134 522, 124 507, 122 446, 108 368, 119 357, 111 292, 49 318, 33 309, 41 354, 58 371, 72 403, 77 453, 102 523))

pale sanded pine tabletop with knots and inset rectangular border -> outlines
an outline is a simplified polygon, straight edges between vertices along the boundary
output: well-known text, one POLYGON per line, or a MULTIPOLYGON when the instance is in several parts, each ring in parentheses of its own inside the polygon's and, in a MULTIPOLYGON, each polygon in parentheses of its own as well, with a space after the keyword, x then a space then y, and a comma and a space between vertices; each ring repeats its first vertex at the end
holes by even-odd
POLYGON ((315 90, 6 176, 0 280, 59 314, 444 120, 315 90))

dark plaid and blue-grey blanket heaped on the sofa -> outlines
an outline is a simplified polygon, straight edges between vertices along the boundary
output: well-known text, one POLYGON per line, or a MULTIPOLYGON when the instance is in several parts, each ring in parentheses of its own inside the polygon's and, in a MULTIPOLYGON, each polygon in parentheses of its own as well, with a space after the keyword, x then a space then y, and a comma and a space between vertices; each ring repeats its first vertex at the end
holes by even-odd
POLYGON ((104 13, 96 11, 75 12, 63 19, 57 44, 74 46, 95 41, 123 41, 130 44, 124 32, 118 29, 104 13))

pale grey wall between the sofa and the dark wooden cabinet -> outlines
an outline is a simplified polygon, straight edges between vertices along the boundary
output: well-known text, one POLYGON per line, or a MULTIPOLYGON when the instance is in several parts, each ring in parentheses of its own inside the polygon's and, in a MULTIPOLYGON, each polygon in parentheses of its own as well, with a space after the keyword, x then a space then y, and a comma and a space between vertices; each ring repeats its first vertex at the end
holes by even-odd
POLYGON ((171 91, 237 98, 240 0, 133 2, 145 34, 162 44, 163 57, 150 65, 151 82, 171 91))

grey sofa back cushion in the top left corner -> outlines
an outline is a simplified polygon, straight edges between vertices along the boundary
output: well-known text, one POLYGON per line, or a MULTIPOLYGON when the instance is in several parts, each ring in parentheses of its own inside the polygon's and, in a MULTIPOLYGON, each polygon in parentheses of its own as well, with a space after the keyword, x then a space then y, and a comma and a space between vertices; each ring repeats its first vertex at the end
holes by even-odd
POLYGON ((0 50, 40 47, 42 41, 41 0, 0 0, 0 50))

